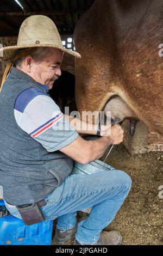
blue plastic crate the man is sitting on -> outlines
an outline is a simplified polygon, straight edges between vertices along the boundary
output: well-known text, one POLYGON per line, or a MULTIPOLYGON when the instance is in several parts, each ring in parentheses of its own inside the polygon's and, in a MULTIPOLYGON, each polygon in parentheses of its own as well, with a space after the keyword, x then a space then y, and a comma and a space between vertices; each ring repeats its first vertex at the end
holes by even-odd
MULTIPOLYGON (((0 206, 4 201, 0 200, 0 206)), ((52 245, 53 221, 25 225, 12 215, 0 218, 0 245, 52 245)))

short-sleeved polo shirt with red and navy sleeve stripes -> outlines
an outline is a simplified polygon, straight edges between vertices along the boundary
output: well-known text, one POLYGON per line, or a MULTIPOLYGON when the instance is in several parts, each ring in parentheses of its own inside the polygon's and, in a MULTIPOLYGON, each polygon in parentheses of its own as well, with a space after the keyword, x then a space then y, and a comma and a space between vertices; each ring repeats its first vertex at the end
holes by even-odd
POLYGON ((49 152, 60 150, 73 142, 78 133, 65 119, 59 106, 48 95, 48 86, 29 88, 18 95, 14 116, 18 126, 49 152))

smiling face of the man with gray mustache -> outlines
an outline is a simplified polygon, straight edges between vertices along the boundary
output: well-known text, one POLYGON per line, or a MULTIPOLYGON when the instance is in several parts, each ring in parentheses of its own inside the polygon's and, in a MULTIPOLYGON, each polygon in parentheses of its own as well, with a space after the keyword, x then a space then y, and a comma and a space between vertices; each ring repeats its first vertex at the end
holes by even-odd
POLYGON ((49 89, 52 89, 53 83, 61 75, 60 65, 62 63, 62 59, 63 52, 56 48, 52 48, 50 56, 44 58, 41 62, 36 62, 33 59, 31 75, 34 80, 45 84, 49 89))

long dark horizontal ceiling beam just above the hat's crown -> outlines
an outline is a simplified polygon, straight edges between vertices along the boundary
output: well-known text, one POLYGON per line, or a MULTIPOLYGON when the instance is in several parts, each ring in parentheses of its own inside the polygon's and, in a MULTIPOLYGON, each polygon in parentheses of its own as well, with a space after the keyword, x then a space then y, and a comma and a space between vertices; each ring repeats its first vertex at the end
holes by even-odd
POLYGON ((2 16, 31 16, 31 15, 67 15, 67 14, 82 14, 84 11, 72 11, 72 10, 63 10, 63 11, 24 11, 24 12, 14 12, 10 11, 8 13, 0 12, 0 17, 2 16))

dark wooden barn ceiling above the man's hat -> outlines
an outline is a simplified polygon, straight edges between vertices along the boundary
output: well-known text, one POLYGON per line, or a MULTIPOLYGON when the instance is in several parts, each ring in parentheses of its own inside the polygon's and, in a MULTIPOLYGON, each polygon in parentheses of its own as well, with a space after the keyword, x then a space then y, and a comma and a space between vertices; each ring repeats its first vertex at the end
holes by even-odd
POLYGON ((0 0, 0 36, 17 36, 21 23, 31 15, 46 15, 60 34, 73 34, 80 16, 95 0, 0 0))

